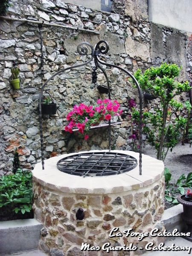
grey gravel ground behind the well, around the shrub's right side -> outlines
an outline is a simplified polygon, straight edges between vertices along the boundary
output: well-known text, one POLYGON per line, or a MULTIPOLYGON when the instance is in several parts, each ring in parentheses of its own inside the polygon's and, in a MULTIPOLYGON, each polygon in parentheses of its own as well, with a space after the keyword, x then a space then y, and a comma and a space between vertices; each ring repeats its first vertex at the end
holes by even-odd
MULTIPOLYGON (((156 150, 149 145, 143 148, 143 153, 156 158, 156 150)), ((192 172, 192 156, 186 157, 185 155, 188 154, 192 154, 192 147, 189 148, 188 143, 184 146, 179 143, 172 152, 169 150, 164 164, 171 171, 172 181, 177 180, 183 173, 187 176, 189 172, 192 172)))

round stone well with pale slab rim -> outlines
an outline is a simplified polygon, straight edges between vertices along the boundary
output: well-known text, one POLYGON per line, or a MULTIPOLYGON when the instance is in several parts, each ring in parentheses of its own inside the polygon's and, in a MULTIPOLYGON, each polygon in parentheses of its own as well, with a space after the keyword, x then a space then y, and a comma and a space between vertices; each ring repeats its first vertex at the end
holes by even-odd
MULTIPOLYGON (((139 162, 138 153, 112 152, 131 155, 139 162)), ((119 175, 80 177, 57 169, 58 160, 65 156, 45 160, 44 170, 38 163, 32 172, 35 218, 44 225, 42 250, 66 256, 140 255, 144 250, 106 253, 102 250, 84 252, 80 248, 86 242, 101 247, 105 242, 111 246, 133 243, 137 247, 145 247, 149 241, 159 244, 160 237, 148 236, 138 241, 136 236, 110 238, 109 233, 114 227, 119 227, 119 232, 129 228, 135 232, 150 232, 155 227, 164 230, 160 224, 164 211, 162 161, 143 155, 142 176, 137 164, 136 168, 119 175), (85 214, 81 221, 76 220, 79 208, 83 208, 85 214)))

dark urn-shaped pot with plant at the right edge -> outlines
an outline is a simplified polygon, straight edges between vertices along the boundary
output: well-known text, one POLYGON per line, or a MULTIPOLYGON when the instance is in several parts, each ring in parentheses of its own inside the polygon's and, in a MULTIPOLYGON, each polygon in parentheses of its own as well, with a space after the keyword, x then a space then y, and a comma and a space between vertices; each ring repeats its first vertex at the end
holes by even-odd
POLYGON ((192 241, 192 191, 187 190, 185 195, 179 195, 177 201, 180 204, 183 204, 183 221, 187 225, 187 232, 191 233, 191 236, 186 238, 189 241, 192 241))

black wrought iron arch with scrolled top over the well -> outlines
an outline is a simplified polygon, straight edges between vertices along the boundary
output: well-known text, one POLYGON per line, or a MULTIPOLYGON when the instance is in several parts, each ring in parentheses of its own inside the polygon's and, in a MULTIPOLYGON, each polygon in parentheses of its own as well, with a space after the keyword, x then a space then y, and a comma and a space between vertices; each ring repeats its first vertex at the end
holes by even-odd
MULTIPOLYGON (((125 74, 127 74, 128 76, 131 77, 131 79, 134 81, 134 84, 137 87, 137 90, 138 90, 138 93, 139 93, 139 101, 140 101, 140 104, 139 104, 139 107, 140 107, 140 111, 139 111, 140 112, 140 122, 139 122, 139 145, 140 145, 140 148, 139 148, 139 174, 142 175, 142 107, 143 107, 142 90, 140 88, 140 85, 139 85, 137 79, 128 70, 125 70, 124 68, 119 67, 119 66, 114 65, 114 64, 105 63, 105 62, 100 60, 99 55, 100 54, 106 54, 108 52, 108 50, 109 50, 109 45, 104 40, 99 41, 96 44, 95 48, 93 48, 93 46, 90 43, 88 43, 88 42, 80 43, 78 45, 78 47, 77 47, 77 52, 80 55, 88 55, 89 51, 91 51, 90 52, 90 54, 91 54, 90 60, 86 61, 83 64, 79 64, 79 65, 72 66, 72 67, 67 67, 67 68, 64 68, 64 69, 58 71, 57 73, 52 75, 49 79, 47 79, 47 81, 43 84, 43 86, 41 88, 41 91, 40 91, 40 95, 39 95, 39 121, 40 121, 40 136, 41 136, 41 160, 42 160, 42 168, 43 169, 44 169, 44 139, 43 139, 43 126, 42 126, 43 119, 42 119, 41 102, 42 102, 44 88, 46 87, 48 82, 50 80, 52 80, 55 76, 57 76, 57 75, 59 75, 61 73, 64 73, 67 70, 73 70, 74 68, 77 68, 77 67, 86 66, 87 64, 89 64, 91 61, 94 60, 94 63, 95 63, 94 70, 97 70, 97 69, 101 70, 102 73, 105 76, 106 81, 107 81, 109 99, 111 99, 110 84, 109 84, 108 76, 107 76, 104 68, 101 65, 104 65, 106 67, 116 67, 117 69, 121 70, 122 72, 124 72, 125 74)), ((110 120, 109 120, 109 133, 111 133, 111 121, 110 120)), ((109 138, 109 150, 111 150, 111 136, 109 138)))

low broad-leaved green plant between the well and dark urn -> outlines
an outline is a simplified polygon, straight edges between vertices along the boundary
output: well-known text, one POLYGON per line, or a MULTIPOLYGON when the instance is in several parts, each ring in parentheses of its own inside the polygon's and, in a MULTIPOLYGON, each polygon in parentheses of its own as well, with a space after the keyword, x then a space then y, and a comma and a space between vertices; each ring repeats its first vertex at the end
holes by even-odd
POLYGON ((166 201, 172 204, 178 204, 176 194, 185 194, 185 187, 192 188, 192 172, 189 172, 187 177, 182 174, 175 184, 170 183, 172 180, 172 174, 170 173, 168 168, 164 169, 164 176, 165 176, 165 199, 166 201))

